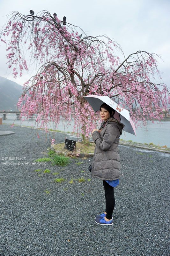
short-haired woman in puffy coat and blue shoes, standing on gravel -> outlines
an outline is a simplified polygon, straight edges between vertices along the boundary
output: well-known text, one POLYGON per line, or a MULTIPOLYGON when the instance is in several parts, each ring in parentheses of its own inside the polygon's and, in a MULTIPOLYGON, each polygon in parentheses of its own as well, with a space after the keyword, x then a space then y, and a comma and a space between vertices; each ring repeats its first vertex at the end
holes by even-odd
POLYGON ((99 130, 92 131, 96 144, 92 161, 92 177, 103 180, 105 189, 106 210, 97 215, 95 222, 100 225, 113 225, 113 210, 115 207, 114 187, 119 184, 120 157, 118 154, 119 137, 124 124, 113 116, 115 110, 107 104, 100 106, 100 117, 103 120, 99 130))

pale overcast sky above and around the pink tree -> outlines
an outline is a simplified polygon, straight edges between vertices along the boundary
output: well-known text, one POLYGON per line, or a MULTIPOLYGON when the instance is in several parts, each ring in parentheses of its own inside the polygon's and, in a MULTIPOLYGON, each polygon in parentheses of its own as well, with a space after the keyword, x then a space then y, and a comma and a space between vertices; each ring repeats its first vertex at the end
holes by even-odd
MULTIPOLYGON (((81 27, 88 35, 106 34, 121 45, 125 56, 138 50, 153 52, 162 57, 159 70, 163 72, 162 81, 170 87, 170 0, 0 0, 1 28, 7 15, 18 11, 29 15, 41 10, 57 13, 62 20, 66 16, 71 24, 81 27)), ((23 84, 34 71, 14 79, 7 68, 6 51, 0 44, 0 76, 18 84, 23 84)), ((32 68, 33 69, 33 68, 32 68)))

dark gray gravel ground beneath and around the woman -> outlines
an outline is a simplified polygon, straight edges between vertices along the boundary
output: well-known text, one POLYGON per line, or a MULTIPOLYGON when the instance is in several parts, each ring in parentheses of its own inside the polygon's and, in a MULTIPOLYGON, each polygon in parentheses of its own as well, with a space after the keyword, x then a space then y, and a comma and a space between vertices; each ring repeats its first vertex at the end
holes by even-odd
MULTIPOLYGON (((3 124, 0 130, 15 132, 0 136, 0 160, 26 157, 13 163, 34 162, 48 156, 49 136, 43 132, 38 139, 30 128, 3 124)), ((65 135, 56 133, 55 139, 63 142, 65 135)), ((8 166, 2 163, 12 161, 2 160, 0 255, 167 256, 170 155, 122 145, 119 149, 122 177, 115 188, 113 226, 94 222, 95 215, 105 210, 105 199, 102 181, 87 180, 90 158, 71 159, 66 167, 51 162, 8 166), (41 172, 34 171, 39 168, 41 172), (43 173, 45 169, 51 172, 43 173), (86 181, 78 182, 81 177, 86 181), (55 178, 65 181, 59 184, 55 178)))

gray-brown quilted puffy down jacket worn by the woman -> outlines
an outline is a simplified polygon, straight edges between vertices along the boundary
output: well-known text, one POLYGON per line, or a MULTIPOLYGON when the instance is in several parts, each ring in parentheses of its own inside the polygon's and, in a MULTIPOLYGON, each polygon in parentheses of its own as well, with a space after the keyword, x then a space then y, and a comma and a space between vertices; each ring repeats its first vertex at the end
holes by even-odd
POLYGON ((92 161, 92 177, 100 180, 119 179, 121 165, 117 146, 123 126, 119 121, 110 117, 101 132, 92 133, 96 144, 92 161))

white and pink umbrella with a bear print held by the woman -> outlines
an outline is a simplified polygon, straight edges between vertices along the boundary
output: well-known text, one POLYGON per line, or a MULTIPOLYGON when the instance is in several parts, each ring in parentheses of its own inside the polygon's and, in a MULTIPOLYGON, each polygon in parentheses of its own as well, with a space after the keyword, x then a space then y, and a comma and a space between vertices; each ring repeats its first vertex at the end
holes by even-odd
POLYGON ((135 125, 130 118, 129 111, 125 108, 120 107, 115 101, 108 96, 88 95, 84 96, 88 103, 94 109, 96 114, 100 114, 100 106, 106 103, 111 108, 115 109, 115 119, 119 120, 125 125, 124 131, 129 132, 136 136, 135 125))

